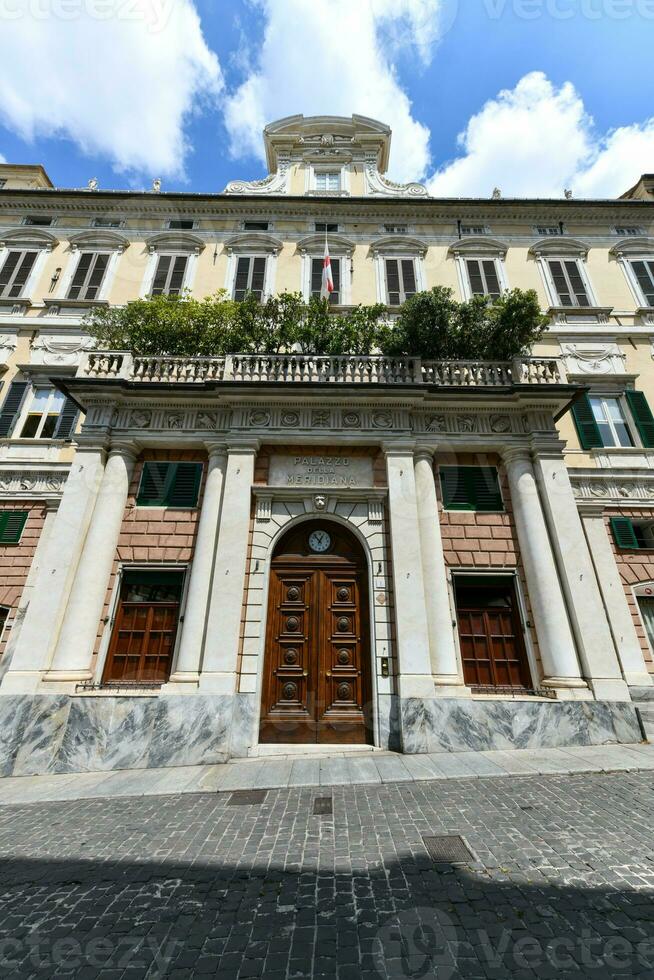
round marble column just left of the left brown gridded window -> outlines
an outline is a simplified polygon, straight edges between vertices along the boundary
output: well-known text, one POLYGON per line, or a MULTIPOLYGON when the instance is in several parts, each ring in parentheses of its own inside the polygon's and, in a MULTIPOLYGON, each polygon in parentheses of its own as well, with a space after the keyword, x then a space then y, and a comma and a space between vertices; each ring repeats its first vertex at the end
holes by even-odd
POLYGON ((91 657, 116 556, 136 452, 132 443, 113 443, 111 446, 52 667, 44 681, 71 685, 91 677, 91 657))

